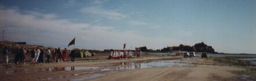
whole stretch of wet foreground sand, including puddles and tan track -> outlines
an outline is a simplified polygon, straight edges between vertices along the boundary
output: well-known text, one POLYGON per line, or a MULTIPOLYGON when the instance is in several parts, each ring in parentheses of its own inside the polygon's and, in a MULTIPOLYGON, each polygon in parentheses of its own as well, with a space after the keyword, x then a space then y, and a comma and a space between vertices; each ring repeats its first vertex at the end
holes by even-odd
POLYGON ((242 67, 199 57, 148 56, 143 59, 86 60, 75 63, 1 66, 1 80, 247 80, 242 67))

